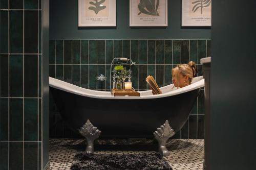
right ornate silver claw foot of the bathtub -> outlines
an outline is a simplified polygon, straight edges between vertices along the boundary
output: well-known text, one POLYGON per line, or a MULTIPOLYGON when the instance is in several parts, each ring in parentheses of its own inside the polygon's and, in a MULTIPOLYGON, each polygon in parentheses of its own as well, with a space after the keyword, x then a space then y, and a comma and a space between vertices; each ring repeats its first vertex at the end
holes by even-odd
POLYGON ((169 151, 165 147, 168 138, 175 135, 175 131, 170 127, 168 120, 154 132, 155 138, 158 141, 158 151, 162 156, 169 156, 169 151))

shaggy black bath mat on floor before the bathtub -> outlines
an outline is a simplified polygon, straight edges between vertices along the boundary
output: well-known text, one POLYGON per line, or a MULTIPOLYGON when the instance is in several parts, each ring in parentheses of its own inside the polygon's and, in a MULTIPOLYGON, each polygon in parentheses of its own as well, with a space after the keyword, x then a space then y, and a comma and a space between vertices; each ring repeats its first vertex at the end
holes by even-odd
POLYGON ((95 154, 78 152, 71 165, 71 170, 158 170, 172 169, 159 153, 149 154, 95 154))

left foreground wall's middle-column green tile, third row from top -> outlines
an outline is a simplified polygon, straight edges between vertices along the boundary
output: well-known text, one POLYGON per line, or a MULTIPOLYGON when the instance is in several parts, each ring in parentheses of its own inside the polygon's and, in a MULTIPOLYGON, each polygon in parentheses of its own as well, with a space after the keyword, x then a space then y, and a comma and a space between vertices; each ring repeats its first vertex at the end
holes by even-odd
POLYGON ((10 55, 10 97, 23 96, 23 56, 10 55))

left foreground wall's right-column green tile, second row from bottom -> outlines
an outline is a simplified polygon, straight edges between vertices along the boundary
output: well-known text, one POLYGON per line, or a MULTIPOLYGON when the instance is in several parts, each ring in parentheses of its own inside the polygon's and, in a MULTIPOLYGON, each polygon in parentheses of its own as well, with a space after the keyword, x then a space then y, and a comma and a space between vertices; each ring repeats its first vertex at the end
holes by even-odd
POLYGON ((38 100, 24 99, 24 140, 38 140, 38 100))

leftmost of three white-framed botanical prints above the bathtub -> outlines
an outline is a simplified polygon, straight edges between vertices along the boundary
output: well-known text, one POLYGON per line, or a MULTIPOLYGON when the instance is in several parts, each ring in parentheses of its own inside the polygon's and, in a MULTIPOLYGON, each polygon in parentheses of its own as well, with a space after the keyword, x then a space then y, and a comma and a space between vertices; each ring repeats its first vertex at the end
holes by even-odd
POLYGON ((116 0, 78 0, 78 27, 116 27, 116 0))

